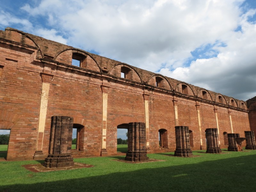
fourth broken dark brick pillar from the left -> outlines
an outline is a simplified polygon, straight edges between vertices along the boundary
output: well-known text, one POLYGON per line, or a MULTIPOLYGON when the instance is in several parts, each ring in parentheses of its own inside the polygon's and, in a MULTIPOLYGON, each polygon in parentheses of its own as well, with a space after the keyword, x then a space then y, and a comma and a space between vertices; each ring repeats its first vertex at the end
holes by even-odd
POLYGON ((206 153, 221 153, 217 128, 206 129, 207 150, 206 153))

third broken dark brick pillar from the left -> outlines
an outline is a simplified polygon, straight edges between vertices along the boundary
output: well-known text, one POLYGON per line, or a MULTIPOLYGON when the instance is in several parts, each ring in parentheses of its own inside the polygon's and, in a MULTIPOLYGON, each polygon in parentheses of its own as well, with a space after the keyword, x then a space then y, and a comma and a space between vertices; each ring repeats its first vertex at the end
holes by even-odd
POLYGON ((175 126, 176 150, 174 156, 193 156, 189 144, 188 126, 175 126))

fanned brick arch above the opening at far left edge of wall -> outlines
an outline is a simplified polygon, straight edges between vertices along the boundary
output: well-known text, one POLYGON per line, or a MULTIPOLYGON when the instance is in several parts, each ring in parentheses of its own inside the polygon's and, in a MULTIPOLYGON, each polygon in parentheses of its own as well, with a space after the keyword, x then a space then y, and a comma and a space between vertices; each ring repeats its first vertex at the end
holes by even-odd
POLYGON ((12 129, 12 127, 19 121, 20 117, 20 115, 14 114, 11 111, 1 109, 0 129, 12 129))

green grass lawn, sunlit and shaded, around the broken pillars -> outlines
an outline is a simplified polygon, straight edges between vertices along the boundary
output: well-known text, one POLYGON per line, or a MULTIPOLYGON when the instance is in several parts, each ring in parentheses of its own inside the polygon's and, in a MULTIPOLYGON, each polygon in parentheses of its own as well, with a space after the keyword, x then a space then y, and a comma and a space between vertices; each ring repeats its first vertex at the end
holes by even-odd
POLYGON ((141 164, 116 161, 124 156, 76 158, 94 167, 37 173, 22 165, 43 161, 2 161, 0 191, 255 191, 256 150, 202 152, 191 158, 148 154, 164 161, 141 164))

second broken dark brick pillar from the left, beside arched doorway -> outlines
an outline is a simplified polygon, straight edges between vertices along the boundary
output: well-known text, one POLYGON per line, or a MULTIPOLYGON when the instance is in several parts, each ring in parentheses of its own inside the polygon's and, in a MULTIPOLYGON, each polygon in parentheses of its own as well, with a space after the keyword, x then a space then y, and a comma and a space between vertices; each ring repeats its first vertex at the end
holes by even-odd
POLYGON ((147 161, 145 123, 129 123, 126 161, 147 161))

